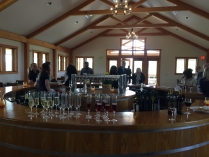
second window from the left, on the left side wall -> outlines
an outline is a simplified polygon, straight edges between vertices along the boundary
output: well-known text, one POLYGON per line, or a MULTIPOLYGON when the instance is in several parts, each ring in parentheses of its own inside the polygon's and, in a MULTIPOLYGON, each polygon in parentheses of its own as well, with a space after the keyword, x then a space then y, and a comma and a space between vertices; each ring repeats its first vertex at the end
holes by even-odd
POLYGON ((43 63, 49 62, 49 53, 33 50, 33 63, 41 67, 43 63))

